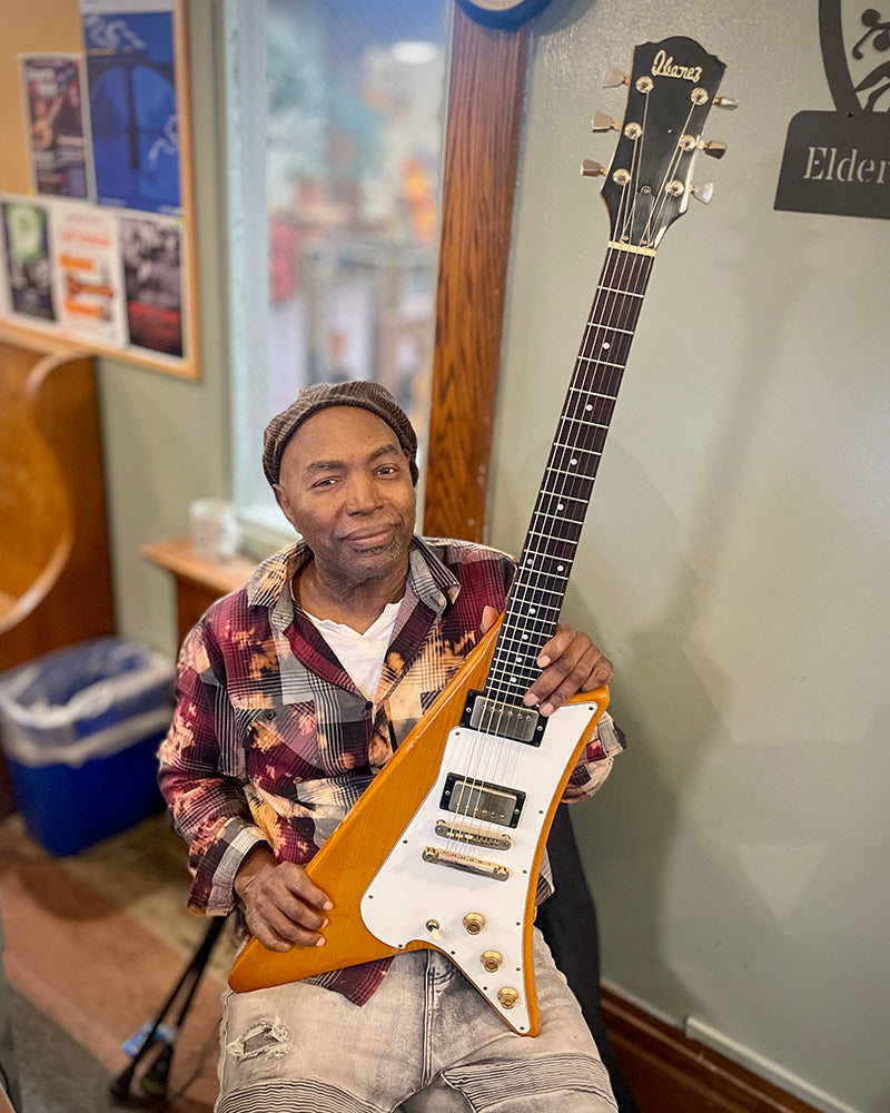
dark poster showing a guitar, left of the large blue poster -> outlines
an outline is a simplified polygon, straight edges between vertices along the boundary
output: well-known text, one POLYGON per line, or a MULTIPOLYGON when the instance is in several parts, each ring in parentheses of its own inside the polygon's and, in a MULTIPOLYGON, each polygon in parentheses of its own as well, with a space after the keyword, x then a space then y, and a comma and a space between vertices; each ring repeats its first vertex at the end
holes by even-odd
POLYGON ((21 69, 34 193, 89 196, 82 59, 26 56, 21 69))

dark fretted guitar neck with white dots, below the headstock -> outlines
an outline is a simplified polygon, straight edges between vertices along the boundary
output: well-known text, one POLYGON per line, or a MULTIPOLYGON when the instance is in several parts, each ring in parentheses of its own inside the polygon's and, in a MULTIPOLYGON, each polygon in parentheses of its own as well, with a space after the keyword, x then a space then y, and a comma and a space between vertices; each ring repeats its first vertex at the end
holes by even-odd
POLYGON ((654 257, 609 246, 488 670, 498 702, 522 705, 556 629, 654 257))

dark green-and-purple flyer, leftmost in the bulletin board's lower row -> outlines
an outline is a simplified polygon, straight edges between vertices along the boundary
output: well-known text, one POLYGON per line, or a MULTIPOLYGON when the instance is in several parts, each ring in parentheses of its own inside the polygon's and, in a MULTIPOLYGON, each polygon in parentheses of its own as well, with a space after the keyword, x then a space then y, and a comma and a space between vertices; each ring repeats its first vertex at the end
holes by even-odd
POLYGON ((55 322, 48 209, 32 201, 4 199, 0 210, 9 311, 32 322, 55 322))

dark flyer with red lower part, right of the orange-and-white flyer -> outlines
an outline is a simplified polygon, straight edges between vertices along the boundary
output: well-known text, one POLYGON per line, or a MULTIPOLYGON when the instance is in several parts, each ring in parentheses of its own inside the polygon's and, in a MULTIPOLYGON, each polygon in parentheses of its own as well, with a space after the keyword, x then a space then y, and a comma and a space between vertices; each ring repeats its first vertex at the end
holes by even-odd
POLYGON ((180 233, 179 221, 159 217, 120 221, 130 343, 175 356, 182 355, 180 233))

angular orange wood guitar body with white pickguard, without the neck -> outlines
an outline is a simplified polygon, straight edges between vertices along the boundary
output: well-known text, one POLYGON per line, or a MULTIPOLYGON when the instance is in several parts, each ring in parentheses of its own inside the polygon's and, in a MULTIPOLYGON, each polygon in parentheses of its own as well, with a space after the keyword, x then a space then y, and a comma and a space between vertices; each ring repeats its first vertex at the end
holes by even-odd
POLYGON ((531 933, 538 866, 562 788, 607 692, 575 697, 541 720, 540 745, 459 726, 498 629, 500 622, 307 865, 334 904, 326 945, 281 954, 251 939, 231 968, 234 989, 433 947, 511 1027, 536 1034, 531 933), (479 818, 479 801, 493 820, 479 818))

